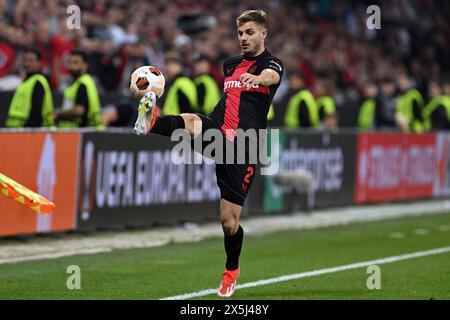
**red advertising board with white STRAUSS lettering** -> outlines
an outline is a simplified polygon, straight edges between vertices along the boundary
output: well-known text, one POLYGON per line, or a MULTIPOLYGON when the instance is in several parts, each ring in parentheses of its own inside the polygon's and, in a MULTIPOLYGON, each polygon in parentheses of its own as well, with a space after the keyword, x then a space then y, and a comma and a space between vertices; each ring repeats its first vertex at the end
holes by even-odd
POLYGON ((358 135, 355 202, 431 197, 437 177, 436 135, 358 135))

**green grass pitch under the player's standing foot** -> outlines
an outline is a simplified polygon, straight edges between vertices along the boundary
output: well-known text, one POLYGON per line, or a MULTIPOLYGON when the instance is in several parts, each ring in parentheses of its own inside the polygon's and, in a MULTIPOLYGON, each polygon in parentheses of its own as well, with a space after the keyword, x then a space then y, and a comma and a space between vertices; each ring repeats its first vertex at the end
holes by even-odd
MULTIPOLYGON (((447 213, 247 235, 238 283, 450 246, 449 225, 447 213)), ((0 299, 159 299, 215 288, 224 263, 223 239, 216 238, 4 264, 0 299), (81 268, 81 290, 66 287, 69 265, 81 268)), ((450 299, 449 266, 450 253, 443 253, 380 265, 381 290, 368 290, 369 274, 359 268, 245 288, 232 299, 450 299)))

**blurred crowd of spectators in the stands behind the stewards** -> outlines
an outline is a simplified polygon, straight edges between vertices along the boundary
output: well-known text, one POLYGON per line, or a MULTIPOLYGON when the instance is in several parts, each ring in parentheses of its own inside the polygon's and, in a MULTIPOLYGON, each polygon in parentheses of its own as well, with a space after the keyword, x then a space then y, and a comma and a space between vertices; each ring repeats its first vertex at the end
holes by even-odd
MULTIPOLYGON (((130 74, 141 65, 166 75, 168 53, 180 57, 183 74, 191 77, 196 57, 207 57, 207 71, 220 88, 223 59, 239 53, 235 19, 249 8, 267 12, 266 46, 286 70, 273 125, 286 125, 290 99, 308 90, 315 99, 333 99, 335 114, 325 126, 335 127, 341 110, 356 103, 361 128, 420 131, 425 128, 414 129, 412 119, 422 117, 436 96, 450 95, 450 3, 444 0, 0 0, 0 90, 20 83, 27 48, 41 53, 43 73, 58 92, 70 84, 67 60, 74 49, 87 54, 100 93, 128 95, 130 74), (79 29, 67 25, 73 4, 81 9, 79 29), (379 30, 366 25, 372 4, 381 8, 379 30), (409 89, 423 100, 412 97, 411 110, 399 107, 409 89)), ((440 129, 450 128, 448 108, 440 129)))

